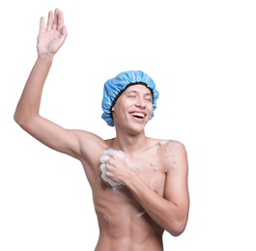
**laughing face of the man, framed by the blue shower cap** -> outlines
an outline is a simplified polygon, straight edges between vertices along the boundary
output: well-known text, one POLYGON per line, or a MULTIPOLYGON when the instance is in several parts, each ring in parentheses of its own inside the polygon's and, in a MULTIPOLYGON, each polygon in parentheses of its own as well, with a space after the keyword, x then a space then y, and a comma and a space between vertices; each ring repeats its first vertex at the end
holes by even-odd
POLYGON ((132 85, 117 99, 112 112, 115 126, 143 130, 153 112, 153 97, 144 85, 132 85))

